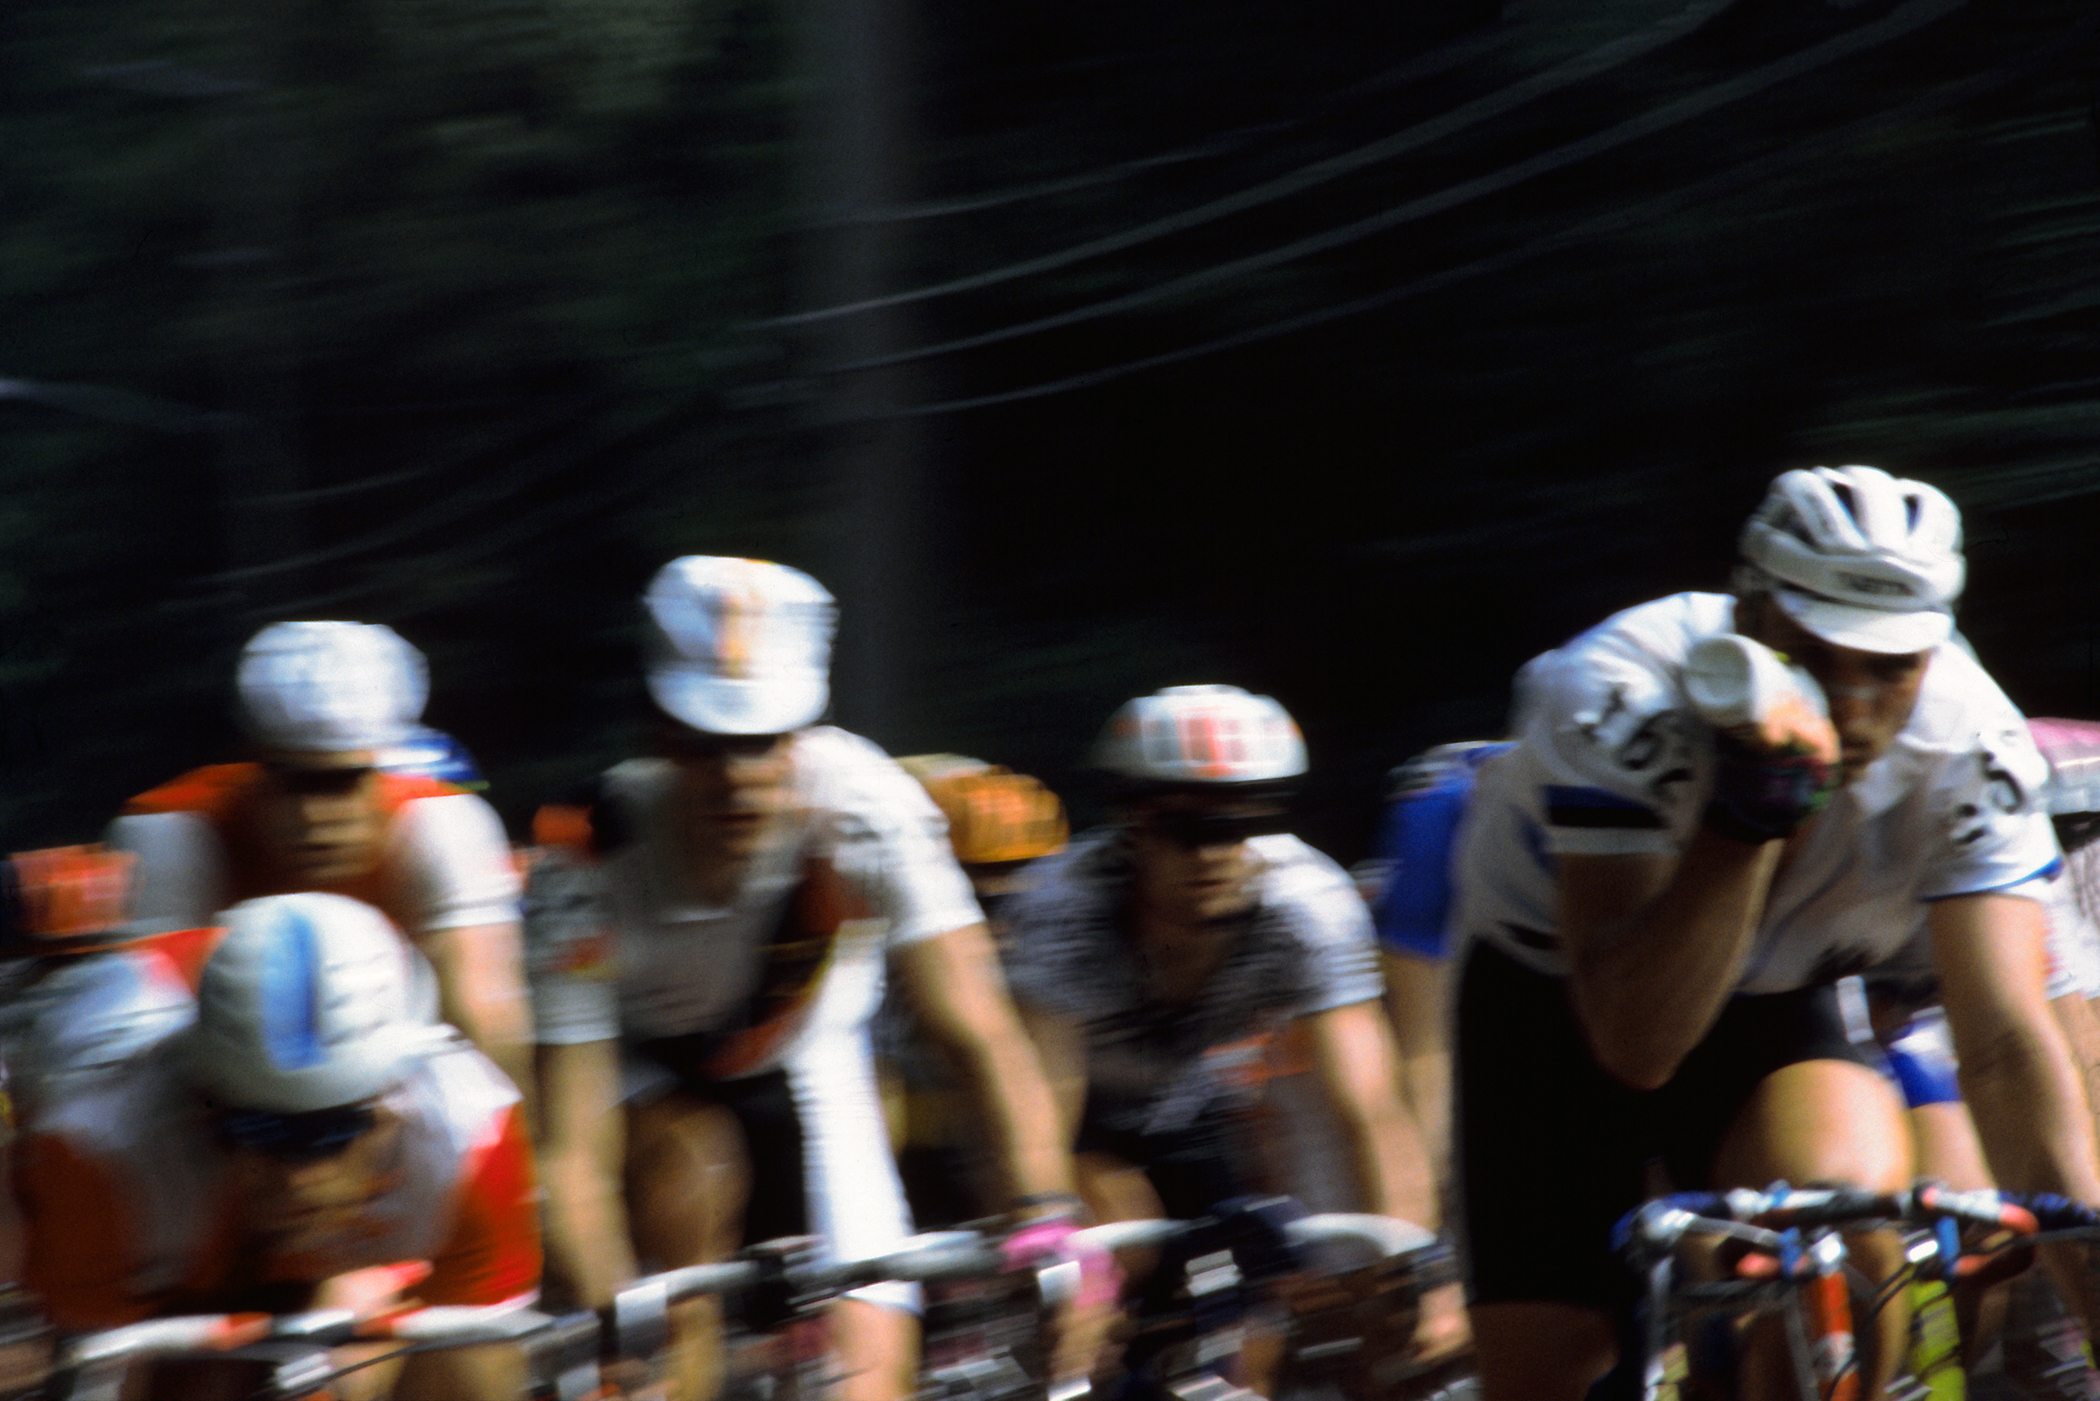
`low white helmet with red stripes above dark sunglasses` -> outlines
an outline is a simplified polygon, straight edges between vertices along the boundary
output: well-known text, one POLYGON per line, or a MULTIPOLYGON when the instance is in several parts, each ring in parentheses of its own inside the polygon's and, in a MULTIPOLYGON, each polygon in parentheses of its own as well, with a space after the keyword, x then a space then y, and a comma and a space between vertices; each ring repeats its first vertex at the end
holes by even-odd
POLYGON ((1306 741, 1266 695, 1166 687, 1109 716, 1094 767, 1128 783, 1283 783, 1306 771, 1306 741))

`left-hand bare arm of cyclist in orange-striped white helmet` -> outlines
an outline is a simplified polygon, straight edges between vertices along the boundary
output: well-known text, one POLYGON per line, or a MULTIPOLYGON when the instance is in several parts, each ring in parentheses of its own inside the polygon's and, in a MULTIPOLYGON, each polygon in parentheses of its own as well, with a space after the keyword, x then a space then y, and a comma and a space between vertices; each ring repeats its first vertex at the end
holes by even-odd
POLYGON ((634 1279, 622 1197, 626 1120, 620 1044, 540 1046, 540 1174, 546 1248, 578 1302, 603 1309, 634 1279))

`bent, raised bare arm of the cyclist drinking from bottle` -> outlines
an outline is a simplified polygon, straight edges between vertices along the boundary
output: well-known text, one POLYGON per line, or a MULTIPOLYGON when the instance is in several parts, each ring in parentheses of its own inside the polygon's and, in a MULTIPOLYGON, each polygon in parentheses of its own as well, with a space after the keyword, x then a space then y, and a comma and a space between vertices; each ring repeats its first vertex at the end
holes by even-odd
POLYGON ((1781 846, 1701 828, 1674 857, 1556 857, 1569 991, 1598 1065, 1653 1090, 1714 1029, 1781 846))

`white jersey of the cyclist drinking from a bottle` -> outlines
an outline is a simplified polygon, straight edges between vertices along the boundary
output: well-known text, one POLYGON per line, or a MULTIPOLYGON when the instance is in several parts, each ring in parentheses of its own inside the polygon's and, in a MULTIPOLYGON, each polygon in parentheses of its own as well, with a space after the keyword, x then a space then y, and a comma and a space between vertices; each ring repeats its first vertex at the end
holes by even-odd
MULTIPOLYGON (((1518 674, 1518 748, 1483 769, 1460 834, 1460 937, 1562 977, 1554 857, 1684 849, 1714 783, 1684 655, 1732 622, 1726 594, 1674 594, 1518 674)), ((2020 712, 1968 651, 1942 643, 1909 725, 1789 849, 1737 991, 1858 973, 1903 947, 1919 901, 2052 874, 2045 779, 2020 712)))

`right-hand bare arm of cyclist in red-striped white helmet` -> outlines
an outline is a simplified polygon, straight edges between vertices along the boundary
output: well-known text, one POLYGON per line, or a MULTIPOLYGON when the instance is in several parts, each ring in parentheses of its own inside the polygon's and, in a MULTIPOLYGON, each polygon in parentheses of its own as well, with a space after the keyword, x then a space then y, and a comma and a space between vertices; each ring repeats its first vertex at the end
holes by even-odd
POLYGON ((1363 1210, 1436 1229, 1436 1174, 1422 1128, 1401 1103, 1399 1052, 1378 1002, 1350 1002, 1304 1019, 1327 1103, 1363 1183, 1363 1210))

